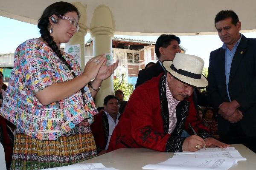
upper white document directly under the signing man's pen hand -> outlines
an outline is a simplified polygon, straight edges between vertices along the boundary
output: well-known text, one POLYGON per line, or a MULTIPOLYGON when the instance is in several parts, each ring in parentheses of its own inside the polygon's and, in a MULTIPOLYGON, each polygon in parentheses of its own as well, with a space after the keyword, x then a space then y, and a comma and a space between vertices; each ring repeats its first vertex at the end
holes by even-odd
POLYGON ((245 161, 246 158, 242 157, 237 150, 221 151, 221 152, 205 152, 201 154, 186 154, 186 155, 173 155, 172 158, 177 159, 195 159, 195 158, 232 158, 237 161, 245 161))

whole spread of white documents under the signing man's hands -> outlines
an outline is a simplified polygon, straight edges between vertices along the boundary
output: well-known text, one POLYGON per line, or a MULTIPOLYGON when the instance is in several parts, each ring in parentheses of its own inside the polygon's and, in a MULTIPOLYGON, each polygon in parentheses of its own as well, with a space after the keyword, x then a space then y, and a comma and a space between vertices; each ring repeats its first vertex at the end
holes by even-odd
POLYGON ((227 170, 237 161, 246 160, 234 147, 207 148, 198 152, 178 152, 159 164, 148 164, 143 169, 154 170, 227 170))

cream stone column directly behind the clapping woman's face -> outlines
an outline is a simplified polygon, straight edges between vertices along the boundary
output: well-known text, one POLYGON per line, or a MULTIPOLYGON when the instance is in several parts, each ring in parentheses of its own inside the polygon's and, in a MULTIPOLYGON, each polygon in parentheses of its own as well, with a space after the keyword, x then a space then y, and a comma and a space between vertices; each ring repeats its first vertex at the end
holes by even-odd
POLYGON ((73 3, 76 8, 78 8, 79 13, 80 13, 80 19, 79 19, 79 31, 76 32, 73 37, 70 39, 69 42, 65 43, 65 52, 75 54, 74 57, 81 57, 80 61, 78 61, 81 65, 81 70, 84 71, 84 66, 85 66, 85 59, 84 59, 84 36, 87 34, 87 26, 86 25, 86 8, 83 4, 76 2, 73 3), (74 46, 75 45, 75 46, 74 46), (74 49, 72 47, 80 46, 80 49, 74 49))

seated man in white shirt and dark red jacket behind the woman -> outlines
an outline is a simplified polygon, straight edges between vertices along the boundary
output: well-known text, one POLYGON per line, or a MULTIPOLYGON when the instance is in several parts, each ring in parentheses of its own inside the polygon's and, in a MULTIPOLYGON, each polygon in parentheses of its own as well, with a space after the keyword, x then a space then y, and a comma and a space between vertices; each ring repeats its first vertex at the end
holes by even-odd
POLYGON ((120 116, 120 113, 118 112, 119 102, 116 96, 106 96, 103 105, 104 111, 93 116, 94 122, 90 125, 98 155, 106 153, 112 132, 116 127, 120 116))

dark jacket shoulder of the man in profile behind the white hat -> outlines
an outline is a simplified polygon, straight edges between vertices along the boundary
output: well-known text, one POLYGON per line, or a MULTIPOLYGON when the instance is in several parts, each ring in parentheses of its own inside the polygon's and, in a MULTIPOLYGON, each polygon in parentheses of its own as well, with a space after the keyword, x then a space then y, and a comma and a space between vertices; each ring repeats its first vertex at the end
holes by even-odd
POLYGON ((160 65, 160 61, 157 61, 157 63, 149 68, 144 68, 139 71, 138 79, 135 85, 135 88, 137 88, 138 85, 141 85, 143 82, 146 82, 153 77, 157 77, 159 74, 163 73, 163 67, 160 65))

